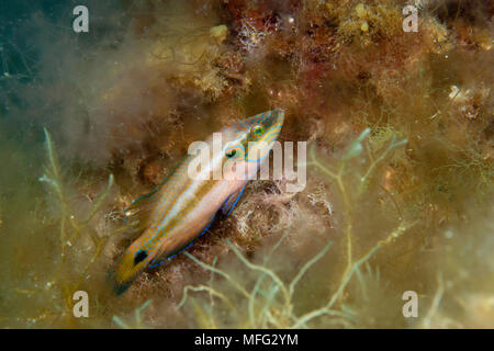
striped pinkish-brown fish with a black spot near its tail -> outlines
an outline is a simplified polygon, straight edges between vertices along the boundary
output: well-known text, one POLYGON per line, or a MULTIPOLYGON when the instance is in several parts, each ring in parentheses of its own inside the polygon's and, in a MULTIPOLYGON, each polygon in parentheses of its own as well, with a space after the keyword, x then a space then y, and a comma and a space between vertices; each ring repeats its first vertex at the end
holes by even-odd
POLYGON ((191 155, 189 148, 183 162, 161 185, 125 210, 125 215, 138 216, 143 233, 110 272, 117 295, 142 271, 190 247, 207 230, 218 212, 232 213, 246 184, 268 159, 283 121, 284 111, 272 110, 223 127, 221 143, 217 143, 218 134, 213 133, 200 144, 210 150, 207 158, 205 152, 191 155))

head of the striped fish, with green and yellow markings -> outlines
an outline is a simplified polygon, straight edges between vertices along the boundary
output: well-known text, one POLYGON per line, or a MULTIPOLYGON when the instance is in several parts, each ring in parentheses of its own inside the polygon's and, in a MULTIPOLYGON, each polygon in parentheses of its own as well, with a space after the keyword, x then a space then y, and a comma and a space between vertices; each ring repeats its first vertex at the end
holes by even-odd
MULTIPOLYGON (((284 121, 283 110, 272 110, 249 117, 226 128, 224 163, 231 169, 243 166, 252 176, 267 159, 284 121)), ((225 169, 225 167, 224 167, 225 169)))

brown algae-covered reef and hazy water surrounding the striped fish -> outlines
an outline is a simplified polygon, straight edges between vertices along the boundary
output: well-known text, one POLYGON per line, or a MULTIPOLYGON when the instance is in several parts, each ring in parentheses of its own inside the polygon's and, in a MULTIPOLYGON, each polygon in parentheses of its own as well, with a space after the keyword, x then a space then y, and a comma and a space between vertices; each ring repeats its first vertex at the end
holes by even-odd
POLYGON ((493 15, 490 0, 1 0, 0 327, 494 328, 493 15), (279 139, 307 141, 306 186, 250 182, 115 296, 108 271, 139 235, 123 211, 192 141, 274 107, 279 139))

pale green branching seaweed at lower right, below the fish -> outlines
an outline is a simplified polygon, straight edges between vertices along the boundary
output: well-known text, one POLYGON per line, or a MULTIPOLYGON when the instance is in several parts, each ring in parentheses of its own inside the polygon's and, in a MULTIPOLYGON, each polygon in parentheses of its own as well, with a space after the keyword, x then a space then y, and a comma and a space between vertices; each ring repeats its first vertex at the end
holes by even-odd
MULTIPOLYGON (((371 176, 375 172, 377 167, 384 159, 389 158, 390 154, 404 144, 406 139, 398 140, 396 135, 393 135, 390 143, 379 150, 375 157, 370 159, 367 169, 362 170, 361 174, 355 171, 351 176, 348 172, 348 165, 351 160, 362 157, 362 151, 364 149, 363 143, 367 136, 370 134, 370 129, 364 129, 359 137, 357 137, 348 147, 346 154, 340 158, 339 163, 336 169, 329 168, 324 165, 316 155, 315 148, 313 147, 310 152, 310 160, 307 166, 313 166, 322 171, 328 177, 329 181, 337 183, 340 194, 344 199, 345 214, 346 214, 346 268, 340 273, 339 283, 336 288, 327 297, 327 303, 319 306, 318 308, 297 314, 294 310, 297 309, 296 298, 294 295, 296 293, 296 286, 301 282, 302 278, 307 273, 307 271, 315 265, 324 256, 327 254, 329 248, 333 246, 333 241, 329 241, 322 250, 319 250, 312 259, 306 261, 297 271, 297 273, 291 278, 290 283, 285 283, 282 278, 280 278, 277 272, 269 268, 269 261, 271 257, 276 253, 277 249, 283 245, 283 240, 289 237, 290 229, 285 231, 283 236, 278 240, 278 242, 272 247, 268 254, 263 257, 262 264, 256 264, 250 262, 229 240, 227 240, 227 246, 235 253, 236 258, 244 263, 244 265, 250 271, 250 273, 256 274, 255 283, 249 287, 246 280, 238 280, 232 276, 231 273, 220 270, 211 264, 206 264, 192 254, 186 252, 184 254, 191 259, 193 262, 211 271, 216 276, 222 276, 231 287, 238 294, 240 303, 237 301, 233 302, 232 297, 235 296, 232 293, 222 291, 221 288, 214 287, 212 279, 210 284, 201 285, 188 285, 183 290, 183 297, 178 304, 178 308, 183 307, 188 301, 190 301, 191 292, 203 292, 210 295, 211 299, 221 301, 223 306, 229 312, 235 327, 238 328, 310 328, 314 326, 314 320, 323 316, 330 316, 334 318, 343 319, 346 326, 352 325, 352 316, 349 313, 349 308, 343 303, 344 294, 348 287, 349 282, 355 275, 358 275, 359 281, 362 282, 361 268, 364 264, 369 264, 369 260, 381 249, 391 245, 397 240, 403 234, 408 231, 413 226, 417 224, 417 219, 414 218, 402 218, 397 226, 388 233, 383 239, 379 240, 374 246, 368 249, 360 257, 355 258, 353 253, 353 201, 358 201, 358 196, 362 196, 367 190, 367 184, 371 176), (357 178, 361 186, 351 188, 348 182, 352 182, 349 178, 357 178), (350 190, 351 189, 351 190, 350 190), (351 192, 351 194, 350 194, 351 192), (242 308, 242 309, 240 309, 242 308)), ((224 287, 223 287, 224 288, 224 287)), ((364 288, 364 286, 362 286, 364 288)), ((200 327, 212 328, 212 327, 225 327, 225 325, 218 325, 218 320, 222 320, 224 313, 220 307, 214 307, 213 304, 206 304, 205 302, 194 302, 193 312, 197 316, 197 320, 200 327)), ((334 322, 327 321, 328 325, 334 322)), ((232 325, 226 324, 226 327, 232 325)))

